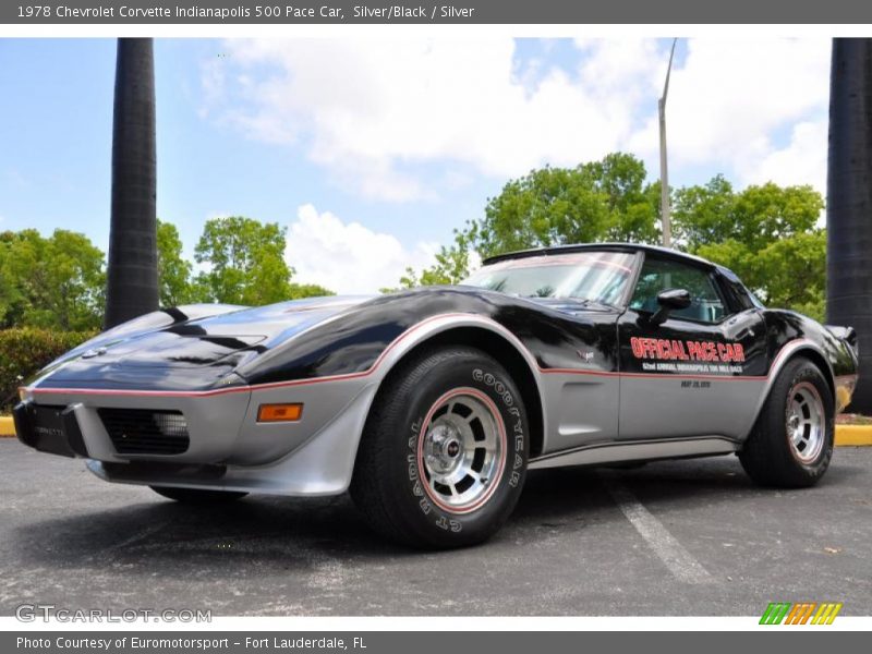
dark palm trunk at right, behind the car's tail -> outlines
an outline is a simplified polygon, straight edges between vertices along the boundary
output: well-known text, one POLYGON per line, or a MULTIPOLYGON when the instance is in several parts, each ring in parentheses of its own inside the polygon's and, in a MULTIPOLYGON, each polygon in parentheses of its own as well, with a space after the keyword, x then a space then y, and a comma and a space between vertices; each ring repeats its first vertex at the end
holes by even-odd
POLYGON ((826 319, 860 343, 851 410, 872 413, 872 39, 833 39, 826 183, 826 319))

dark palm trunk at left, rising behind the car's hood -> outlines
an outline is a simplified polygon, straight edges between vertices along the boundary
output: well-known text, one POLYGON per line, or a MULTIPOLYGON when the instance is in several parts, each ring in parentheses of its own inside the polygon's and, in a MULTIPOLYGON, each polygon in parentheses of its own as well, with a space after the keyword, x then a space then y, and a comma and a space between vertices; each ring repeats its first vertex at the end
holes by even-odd
POLYGON ((105 328, 158 308, 155 61, 150 38, 118 39, 105 328))

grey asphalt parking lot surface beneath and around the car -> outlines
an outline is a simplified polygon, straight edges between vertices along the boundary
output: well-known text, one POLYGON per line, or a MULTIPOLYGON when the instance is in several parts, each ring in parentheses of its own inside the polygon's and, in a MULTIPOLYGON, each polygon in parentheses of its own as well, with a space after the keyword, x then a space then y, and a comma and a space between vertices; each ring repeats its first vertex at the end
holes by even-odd
POLYGON ((347 497, 195 509, 0 439, 0 615, 760 615, 770 602, 872 614, 872 448, 815 488, 756 488, 735 457, 531 474, 486 545, 416 553, 347 497))

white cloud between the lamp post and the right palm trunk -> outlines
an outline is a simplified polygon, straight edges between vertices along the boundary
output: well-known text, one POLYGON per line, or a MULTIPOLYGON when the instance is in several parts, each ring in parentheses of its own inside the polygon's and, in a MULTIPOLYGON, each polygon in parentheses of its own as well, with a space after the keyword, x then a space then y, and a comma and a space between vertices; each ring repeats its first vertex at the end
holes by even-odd
MULTIPOLYGON (((670 164, 715 166, 734 179, 756 181, 749 170, 760 169, 778 149, 773 143, 778 131, 798 121, 826 121, 828 76, 827 39, 691 39, 669 83, 670 164)), ((628 146, 656 156, 656 112, 628 146)), ((826 142, 821 153, 803 154, 825 158, 826 142)))

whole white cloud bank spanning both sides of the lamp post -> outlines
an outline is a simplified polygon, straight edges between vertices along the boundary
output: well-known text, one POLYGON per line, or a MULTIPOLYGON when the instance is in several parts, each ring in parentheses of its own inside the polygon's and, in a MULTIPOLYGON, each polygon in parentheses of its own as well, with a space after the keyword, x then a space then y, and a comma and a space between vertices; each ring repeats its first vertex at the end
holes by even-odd
MULTIPOLYGON (((574 45, 574 68, 519 68, 510 38, 230 40, 204 87, 211 116, 305 148, 378 199, 437 195, 444 177, 420 171, 433 164, 496 178, 616 149, 655 164, 667 44, 574 45)), ((670 162, 762 169, 778 134, 825 119, 828 53, 827 39, 690 39, 669 89, 670 162)))

